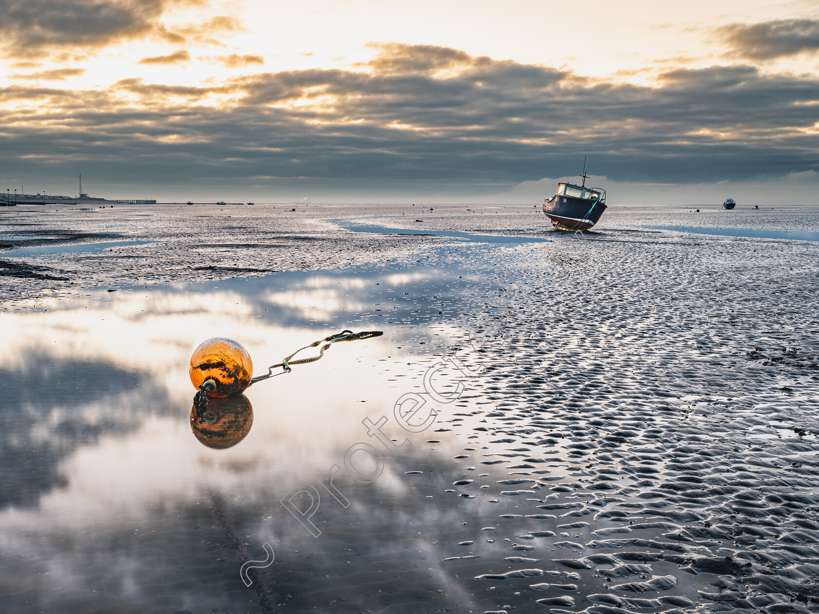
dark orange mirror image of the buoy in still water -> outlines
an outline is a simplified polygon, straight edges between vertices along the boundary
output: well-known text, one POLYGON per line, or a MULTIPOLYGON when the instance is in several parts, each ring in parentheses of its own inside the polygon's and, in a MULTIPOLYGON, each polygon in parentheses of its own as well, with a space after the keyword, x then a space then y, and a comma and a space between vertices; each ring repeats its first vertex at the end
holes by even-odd
POLYGON ((202 445, 230 448, 247 437, 253 426, 253 406, 245 395, 210 399, 205 409, 191 407, 191 430, 202 445))

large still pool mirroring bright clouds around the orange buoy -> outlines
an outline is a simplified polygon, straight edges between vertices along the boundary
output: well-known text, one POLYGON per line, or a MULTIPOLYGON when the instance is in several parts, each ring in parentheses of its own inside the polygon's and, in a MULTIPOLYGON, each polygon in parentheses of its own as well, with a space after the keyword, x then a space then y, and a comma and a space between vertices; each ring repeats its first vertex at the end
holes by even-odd
POLYGON ((407 454, 376 489, 339 476, 354 504, 324 499, 315 544, 279 499, 300 482, 318 483, 334 463, 343 466, 345 449, 369 441, 362 420, 390 415, 398 396, 419 390, 419 357, 466 343, 470 312, 496 287, 487 271, 396 266, 88 291, 7 311, 3 611, 274 612, 291 600, 301 604, 296 611, 345 600, 358 608, 379 603, 379 583, 418 590, 416 575, 437 591, 426 567, 396 580, 393 559, 432 521, 403 465, 435 475, 440 452, 407 454), (346 327, 386 334, 334 345, 319 363, 251 386, 241 407, 213 402, 216 419, 191 415, 188 358, 207 337, 241 340, 258 373, 346 327), (387 520, 390 536, 361 533, 362 524, 387 520), (276 551, 275 578, 257 577, 247 589, 239 568, 264 558, 265 542, 276 551), (372 597, 361 583, 351 588, 361 577, 372 597))

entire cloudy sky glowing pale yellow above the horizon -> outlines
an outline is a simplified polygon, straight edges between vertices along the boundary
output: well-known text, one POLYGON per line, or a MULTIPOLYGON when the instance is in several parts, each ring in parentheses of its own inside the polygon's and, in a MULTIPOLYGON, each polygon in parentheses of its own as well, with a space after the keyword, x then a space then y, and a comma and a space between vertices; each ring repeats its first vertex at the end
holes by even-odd
POLYGON ((819 204, 819 3, 0 0, 0 188, 819 204))

